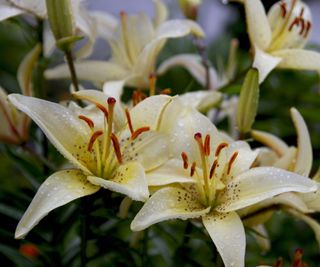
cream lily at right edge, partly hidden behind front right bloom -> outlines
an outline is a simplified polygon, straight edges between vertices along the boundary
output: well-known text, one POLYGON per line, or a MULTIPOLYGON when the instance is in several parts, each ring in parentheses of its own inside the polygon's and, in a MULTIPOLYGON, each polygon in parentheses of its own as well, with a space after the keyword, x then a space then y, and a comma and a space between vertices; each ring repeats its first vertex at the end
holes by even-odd
MULTIPOLYGON (((312 146, 307 125, 303 120, 301 114, 295 108, 291 109, 291 117, 294 122, 297 135, 298 145, 297 147, 289 147, 277 136, 262 131, 252 131, 252 137, 266 145, 271 151, 272 159, 269 163, 265 160, 265 157, 270 157, 269 152, 262 151, 262 154, 258 157, 256 162, 258 165, 276 166, 285 170, 293 171, 300 175, 303 175, 306 180, 309 178, 312 168, 312 146)), ((316 181, 316 180, 315 180, 316 181)), ((317 182, 317 181, 316 181, 317 182)), ((265 213, 265 216, 259 214, 261 211, 266 211, 268 207, 280 206, 284 211, 302 219, 306 222, 315 232, 318 243, 320 244, 320 225, 319 223, 306 215, 307 213, 320 211, 320 190, 318 183, 318 190, 312 193, 285 193, 276 196, 267 201, 263 201, 258 205, 252 206, 248 209, 244 209, 240 212, 241 216, 249 217, 250 214, 258 214, 259 218, 256 220, 250 219, 253 224, 262 224, 269 218, 270 213, 265 213)), ((261 212, 263 213, 263 212, 261 212)), ((252 223, 251 223, 252 224, 252 223)))

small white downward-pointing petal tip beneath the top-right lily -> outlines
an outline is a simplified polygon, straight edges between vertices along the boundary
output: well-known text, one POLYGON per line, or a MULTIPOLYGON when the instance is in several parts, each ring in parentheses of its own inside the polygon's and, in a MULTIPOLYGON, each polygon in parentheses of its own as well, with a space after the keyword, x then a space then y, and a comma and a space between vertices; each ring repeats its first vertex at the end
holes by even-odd
POLYGON ((261 50, 258 46, 255 46, 255 55, 252 66, 259 71, 259 83, 262 83, 265 80, 269 73, 278 66, 281 60, 281 57, 270 55, 261 50))

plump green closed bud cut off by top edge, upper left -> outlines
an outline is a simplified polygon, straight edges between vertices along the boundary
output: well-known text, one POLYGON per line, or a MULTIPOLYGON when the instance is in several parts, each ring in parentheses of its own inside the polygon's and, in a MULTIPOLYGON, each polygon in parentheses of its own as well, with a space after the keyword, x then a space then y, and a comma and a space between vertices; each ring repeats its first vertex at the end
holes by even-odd
POLYGON ((80 38, 75 35, 75 24, 70 0, 46 0, 48 19, 59 49, 66 51, 80 38))

